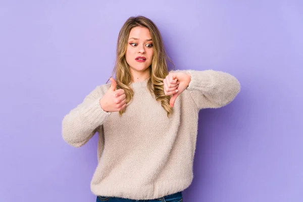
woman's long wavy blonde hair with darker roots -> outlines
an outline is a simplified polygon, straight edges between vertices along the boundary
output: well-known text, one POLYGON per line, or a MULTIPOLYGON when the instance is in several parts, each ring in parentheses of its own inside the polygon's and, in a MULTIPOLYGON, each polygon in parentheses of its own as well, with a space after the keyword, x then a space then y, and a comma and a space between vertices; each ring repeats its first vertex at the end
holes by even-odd
MULTIPOLYGON (((144 16, 130 17, 122 26, 116 51, 116 63, 113 74, 116 75, 117 89, 123 89, 126 95, 126 103, 129 103, 134 95, 133 89, 130 87, 132 79, 129 65, 126 62, 125 53, 128 44, 130 30, 134 27, 146 27, 153 40, 154 56, 149 67, 150 78, 147 81, 147 87, 150 93, 154 93, 156 100, 161 102, 161 106, 166 110, 167 116, 172 112, 169 105, 170 96, 164 94, 163 80, 168 75, 167 60, 174 66, 170 58, 167 56, 162 36, 156 24, 144 16)), ((112 76, 113 76, 112 74, 112 76)), ((127 110, 127 107, 119 111, 119 115, 127 110)))

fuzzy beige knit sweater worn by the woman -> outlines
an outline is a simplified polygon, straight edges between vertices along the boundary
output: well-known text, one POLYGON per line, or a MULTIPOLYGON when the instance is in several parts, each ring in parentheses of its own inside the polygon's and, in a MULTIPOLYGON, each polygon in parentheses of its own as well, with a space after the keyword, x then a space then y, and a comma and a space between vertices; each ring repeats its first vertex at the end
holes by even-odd
POLYGON ((193 179, 198 112, 229 104, 240 90, 224 72, 177 70, 191 81, 167 117, 147 89, 147 80, 132 83, 126 112, 105 112, 99 99, 110 84, 99 85, 63 119, 62 135, 80 147, 98 132, 98 165, 91 180, 95 195, 153 199, 186 189, 193 179))

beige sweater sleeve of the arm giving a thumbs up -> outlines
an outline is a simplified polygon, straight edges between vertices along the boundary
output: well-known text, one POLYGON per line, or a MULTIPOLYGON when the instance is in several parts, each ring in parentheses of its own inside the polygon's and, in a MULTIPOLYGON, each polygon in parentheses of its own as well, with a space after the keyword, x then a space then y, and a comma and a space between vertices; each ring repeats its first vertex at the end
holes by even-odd
POLYGON ((62 136, 68 144, 75 147, 84 145, 111 114, 101 108, 99 100, 102 96, 101 86, 97 86, 81 104, 64 116, 62 136))

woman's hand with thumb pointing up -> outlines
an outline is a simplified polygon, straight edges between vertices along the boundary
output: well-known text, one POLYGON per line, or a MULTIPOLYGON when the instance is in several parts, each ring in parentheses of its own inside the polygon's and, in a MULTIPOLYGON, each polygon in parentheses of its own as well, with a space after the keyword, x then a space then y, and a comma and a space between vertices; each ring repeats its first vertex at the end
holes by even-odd
POLYGON ((126 106, 126 95, 123 89, 116 90, 117 83, 114 78, 110 78, 110 80, 111 87, 99 100, 99 104, 106 112, 119 112, 126 106))

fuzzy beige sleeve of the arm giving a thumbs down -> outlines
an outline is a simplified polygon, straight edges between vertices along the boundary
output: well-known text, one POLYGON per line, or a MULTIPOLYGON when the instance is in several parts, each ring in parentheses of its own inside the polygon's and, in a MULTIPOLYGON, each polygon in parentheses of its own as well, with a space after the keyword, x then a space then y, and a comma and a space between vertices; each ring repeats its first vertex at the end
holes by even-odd
POLYGON ((187 90, 198 109, 220 108, 231 103, 240 91, 232 75, 214 70, 186 70, 190 74, 187 90))

